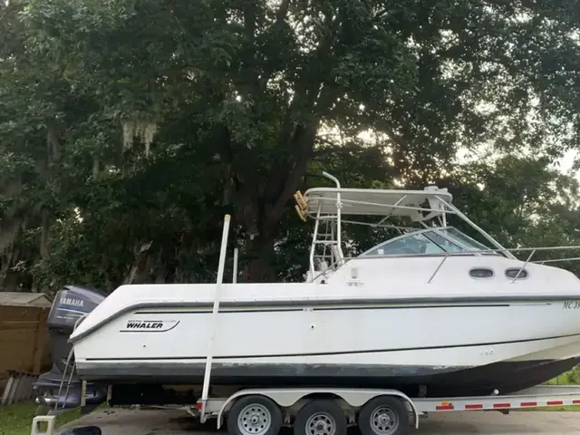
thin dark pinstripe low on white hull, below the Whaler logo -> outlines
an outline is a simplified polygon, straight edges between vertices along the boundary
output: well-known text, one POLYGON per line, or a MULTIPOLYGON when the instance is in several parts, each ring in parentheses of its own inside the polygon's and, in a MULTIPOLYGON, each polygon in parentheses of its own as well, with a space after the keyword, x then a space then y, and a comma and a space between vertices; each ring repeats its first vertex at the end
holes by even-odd
MULTIPOLYGON (((492 346, 498 344, 514 344, 514 343, 531 343, 531 342, 541 342, 546 340, 555 340, 558 338, 570 338, 570 337, 580 337, 580 333, 571 333, 567 335, 556 335, 544 338, 531 338, 528 340, 512 340, 506 342, 492 342, 492 343, 464 343, 464 344, 453 344, 449 346, 423 346, 423 347, 404 347, 398 349, 372 349, 364 351, 341 351, 341 352, 320 352, 320 353, 268 353, 266 355, 227 355, 227 356, 214 356, 214 360, 226 360, 226 359, 236 359, 236 360, 249 360, 253 358, 289 358, 289 357, 304 357, 304 356, 331 356, 331 355, 353 355, 353 354, 364 354, 364 353, 391 353, 391 352, 405 352, 405 351, 430 351, 437 349, 457 349, 464 347, 477 347, 477 346, 492 346)), ((168 360, 205 360, 206 356, 160 356, 154 358, 87 358, 86 361, 168 361, 168 360)))

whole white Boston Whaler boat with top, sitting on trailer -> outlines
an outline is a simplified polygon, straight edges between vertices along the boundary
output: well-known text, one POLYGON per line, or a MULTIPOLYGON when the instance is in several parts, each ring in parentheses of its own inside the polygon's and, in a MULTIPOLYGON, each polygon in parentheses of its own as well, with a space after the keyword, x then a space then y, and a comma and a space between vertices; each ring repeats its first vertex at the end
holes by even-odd
MULTIPOLYGON (((196 384, 211 352, 213 385, 467 396, 523 390, 580 362, 580 280, 535 263, 543 248, 517 259, 447 189, 343 189, 333 180, 335 188, 295 196, 298 213, 315 221, 304 283, 121 285, 70 337, 78 375, 196 384), (347 220, 362 215, 381 220, 347 220), (449 227, 449 215, 491 247, 449 227), (395 217, 420 228, 398 227, 401 236, 344 256, 345 223, 389 227, 395 217)), ((74 289, 58 297, 53 313, 82 307, 74 289)))

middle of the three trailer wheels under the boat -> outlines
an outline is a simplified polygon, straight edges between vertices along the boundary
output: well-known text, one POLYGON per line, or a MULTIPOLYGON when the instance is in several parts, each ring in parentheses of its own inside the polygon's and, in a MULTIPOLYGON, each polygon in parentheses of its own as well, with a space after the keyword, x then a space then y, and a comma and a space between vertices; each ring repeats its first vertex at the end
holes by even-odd
POLYGON ((314 400, 296 414, 294 435, 346 435, 346 417, 335 401, 314 400))

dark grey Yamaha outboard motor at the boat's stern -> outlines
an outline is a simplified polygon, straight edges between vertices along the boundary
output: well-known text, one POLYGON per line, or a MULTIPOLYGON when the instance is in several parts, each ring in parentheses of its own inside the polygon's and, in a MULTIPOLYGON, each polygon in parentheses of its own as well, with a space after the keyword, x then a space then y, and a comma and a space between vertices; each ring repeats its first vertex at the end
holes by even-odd
MULTIPOLYGON (((81 404, 82 380, 73 371, 73 356, 67 366, 69 354, 73 349, 68 339, 75 325, 82 322, 82 316, 91 313, 105 297, 106 295, 97 290, 80 285, 65 285, 55 295, 46 321, 53 368, 50 372, 40 375, 34 382, 37 403, 59 410, 75 408, 81 404)), ((105 401, 106 397, 105 385, 87 383, 85 394, 87 406, 96 406, 105 401)))

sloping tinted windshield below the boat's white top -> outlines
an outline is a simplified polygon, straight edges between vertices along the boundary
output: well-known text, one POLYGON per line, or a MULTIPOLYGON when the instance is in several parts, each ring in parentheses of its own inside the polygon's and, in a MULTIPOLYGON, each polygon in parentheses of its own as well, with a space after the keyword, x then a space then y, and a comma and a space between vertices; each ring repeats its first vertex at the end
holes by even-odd
POLYGON ((361 256, 408 256, 445 253, 500 255, 455 227, 440 227, 391 238, 372 247, 361 256), (489 253, 479 252, 489 251, 489 253))

